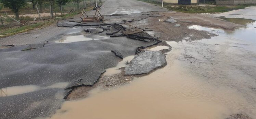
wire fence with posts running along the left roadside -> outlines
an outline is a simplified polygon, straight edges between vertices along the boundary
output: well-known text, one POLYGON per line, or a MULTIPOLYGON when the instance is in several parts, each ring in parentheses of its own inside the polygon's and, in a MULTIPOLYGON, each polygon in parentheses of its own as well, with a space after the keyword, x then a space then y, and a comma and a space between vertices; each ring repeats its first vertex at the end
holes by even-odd
MULTIPOLYGON (((42 20, 47 20, 50 18, 55 18, 56 16, 62 17, 66 14, 72 14, 81 12, 82 9, 86 9, 92 6, 95 6, 95 0, 80 0, 77 2, 68 2, 66 4, 51 4, 52 15, 50 10, 50 2, 44 2, 43 5, 37 5, 38 11, 41 15, 42 20)), ((97 3, 100 3, 100 0, 97 0, 97 3)), ((27 6, 20 10, 19 18, 15 18, 14 13, 9 8, 3 8, 0 11, 0 27, 10 27, 15 25, 21 25, 27 23, 28 21, 36 22, 40 20, 40 16, 37 12, 37 8, 33 8, 31 3, 28 3, 27 6), (7 16, 7 15, 8 16, 7 16), (17 20, 17 21, 15 21, 17 20)))

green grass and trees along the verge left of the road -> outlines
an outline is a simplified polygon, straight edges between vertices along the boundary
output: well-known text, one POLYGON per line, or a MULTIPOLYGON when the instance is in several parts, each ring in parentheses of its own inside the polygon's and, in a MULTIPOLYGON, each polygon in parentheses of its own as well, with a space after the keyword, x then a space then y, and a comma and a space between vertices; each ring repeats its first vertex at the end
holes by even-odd
POLYGON ((44 28, 51 24, 56 24, 56 22, 61 19, 74 17, 80 14, 81 9, 85 8, 85 4, 86 11, 93 8, 93 2, 90 0, 87 0, 87 2, 83 0, 50 0, 54 2, 54 4, 52 4, 53 17, 51 17, 49 0, 24 0, 25 2, 20 4, 19 10, 13 10, 15 7, 11 8, 11 2, 15 1, 23 2, 22 0, 0 0, 0 38, 27 32, 36 28, 44 28), (42 4, 38 5, 38 9, 41 11, 40 14, 47 14, 42 16, 42 20, 40 20, 35 7, 37 2, 41 2, 42 4), (76 4, 77 2, 79 5, 76 4), (62 14, 60 13, 60 6, 62 6, 62 14), (8 16, 5 13, 7 13, 8 16), (20 23, 13 19, 16 19, 20 23))

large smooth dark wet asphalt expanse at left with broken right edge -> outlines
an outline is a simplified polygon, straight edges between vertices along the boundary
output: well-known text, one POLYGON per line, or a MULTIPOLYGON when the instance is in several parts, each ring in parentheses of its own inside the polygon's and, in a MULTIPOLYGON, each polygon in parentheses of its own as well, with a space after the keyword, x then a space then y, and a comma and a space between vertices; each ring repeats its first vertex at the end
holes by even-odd
MULTIPOLYGON (((1 81, 0 88, 17 85, 38 85, 47 87, 53 83, 69 82, 68 87, 77 85, 93 85, 105 69, 114 67, 119 58, 111 52, 117 50, 124 57, 134 55, 140 46, 149 46, 155 42, 143 42, 125 37, 116 37, 106 40, 91 40, 72 43, 55 43, 49 41, 42 48, 22 51, 28 46, 18 46, 9 49, 1 49, 1 81)), ((44 89, 49 90, 49 89, 44 89)), ((50 89, 54 91, 30 92, 22 95, 1 97, 1 117, 37 117, 33 113, 25 113, 32 110, 45 110, 43 115, 51 115, 53 110, 59 108, 62 99, 53 101, 56 95, 64 96, 67 90, 50 89), (56 91, 56 92, 55 92, 56 91), (47 92, 47 93, 46 93, 47 92), (40 94, 40 95, 39 95, 40 94), (42 96, 44 95, 44 96, 42 96), (52 98, 52 100, 50 100, 52 98), (20 100, 16 100, 20 99, 20 100), (29 100, 30 99, 30 100, 29 100), (41 100, 40 100, 41 99, 41 100), (10 100, 14 100, 10 102, 10 100), (47 103, 39 103, 35 109, 31 105, 38 100, 47 103), (50 102, 56 102, 54 106, 50 102), (25 104, 25 105, 24 105, 25 104), (50 104, 46 106, 47 104, 50 104), (21 108, 14 108, 18 106, 21 108), (12 111, 8 111, 12 109, 12 111)), ((55 103, 53 103, 55 104, 55 103)), ((37 111, 38 112, 38 111, 37 111)))

